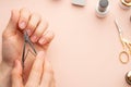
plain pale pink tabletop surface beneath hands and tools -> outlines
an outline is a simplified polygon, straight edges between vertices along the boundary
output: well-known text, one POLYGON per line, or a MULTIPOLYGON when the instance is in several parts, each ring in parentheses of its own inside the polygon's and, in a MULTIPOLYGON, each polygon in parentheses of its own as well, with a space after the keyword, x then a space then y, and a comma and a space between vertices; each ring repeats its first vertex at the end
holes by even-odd
POLYGON ((131 40, 131 11, 122 10, 119 0, 109 1, 110 12, 100 20, 95 15, 97 0, 87 0, 84 8, 72 5, 71 0, 0 0, 0 35, 12 9, 28 8, 46 17, 56 33, 48 59, 57 87, 127 87, 124 74, 131 61, 123 65, 118 59, 122 46, 114 20, 131 40))

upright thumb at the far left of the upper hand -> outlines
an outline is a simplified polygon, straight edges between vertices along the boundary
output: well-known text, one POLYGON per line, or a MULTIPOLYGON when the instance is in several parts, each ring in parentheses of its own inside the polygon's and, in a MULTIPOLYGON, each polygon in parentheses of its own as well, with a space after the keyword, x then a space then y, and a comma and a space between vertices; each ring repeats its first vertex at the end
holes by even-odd
POLYGON ((16 34, 19 17, 20 17, 20 12, 17 10, 12 10, 8 26, 2 34, 3 38, 10 37, 16 34))

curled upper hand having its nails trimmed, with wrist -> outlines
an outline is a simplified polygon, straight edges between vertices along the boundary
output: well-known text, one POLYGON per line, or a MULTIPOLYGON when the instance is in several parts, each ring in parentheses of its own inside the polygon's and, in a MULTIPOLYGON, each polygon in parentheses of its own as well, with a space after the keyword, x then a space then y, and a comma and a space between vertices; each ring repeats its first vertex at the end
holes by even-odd
MULTIPOLYGON (((23 8, 12 10, 10 21, 2 33, 2 62, 0 64, 0 87, 10 87, 10 74, 15 60, 22 60, 24 45, 23 32, 26 30, 37 51, 46 53, 53 33, 48 29, 47 21, 39 14, 23 8)), ((28 48, 28 47, 27 47, 28 48)), ((25 60, 24 79, 28 77, 34 61, 32 53, 25 60)))

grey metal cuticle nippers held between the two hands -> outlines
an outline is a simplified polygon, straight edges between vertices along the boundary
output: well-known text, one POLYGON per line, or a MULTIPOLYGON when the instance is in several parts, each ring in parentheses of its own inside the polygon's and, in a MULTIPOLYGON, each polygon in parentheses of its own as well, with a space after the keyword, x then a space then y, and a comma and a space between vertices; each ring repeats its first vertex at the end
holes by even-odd
POLYGON ((26 58, 26 54, 25 54, 25 50, 26 50, 26 44, 28 44, 28 46, 32 48, 32 50, 34 51, 35 54, 37 54, 37 51, 36 49, 34 48, 28 35, 27 35, 27 32, 24 32, 24 46, 23 46, 23 53, 22 53, 22 66, 24 69, 24 61, 25 61, 25 58, 26 58))

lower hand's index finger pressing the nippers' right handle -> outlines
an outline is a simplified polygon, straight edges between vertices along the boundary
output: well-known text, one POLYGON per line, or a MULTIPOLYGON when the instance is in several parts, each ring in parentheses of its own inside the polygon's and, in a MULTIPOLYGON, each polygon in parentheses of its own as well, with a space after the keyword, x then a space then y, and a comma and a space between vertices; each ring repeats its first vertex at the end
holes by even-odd
POLYGON ((45 53, 40 51, 33 64, 32 71, 29 73, 28 80, 25 87, 38 87, 40 82, 40 76, 43 74, 43 63, 44 63, 45 53))

